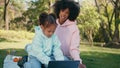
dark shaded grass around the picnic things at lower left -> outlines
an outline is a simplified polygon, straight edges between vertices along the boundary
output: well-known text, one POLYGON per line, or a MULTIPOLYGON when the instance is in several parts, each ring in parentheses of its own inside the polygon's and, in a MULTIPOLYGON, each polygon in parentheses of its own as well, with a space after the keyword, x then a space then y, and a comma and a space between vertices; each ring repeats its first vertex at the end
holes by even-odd
MULTIPOLYGON (((8 54, 8 50, 12 51, 12 49, 0 49, 0 68, 3 68, 4 59, 8 54)), ((15 51, 15 56, 27 55, 24 49, 15 49, 15 51)))

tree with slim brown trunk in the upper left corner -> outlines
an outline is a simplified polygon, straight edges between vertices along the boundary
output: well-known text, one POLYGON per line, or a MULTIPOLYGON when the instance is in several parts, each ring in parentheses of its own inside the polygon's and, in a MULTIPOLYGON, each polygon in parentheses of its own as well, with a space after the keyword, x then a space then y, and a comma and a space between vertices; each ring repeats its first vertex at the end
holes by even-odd
POLYGON ((3 19, 5 22, 6 30, 9 30, 9 28, 10 28, 10 20, 19 16, 23 12, 24 7, 25 7, 24 1, 25 0, 17 0, 17 1, 16 0, 4 0, 3 19))

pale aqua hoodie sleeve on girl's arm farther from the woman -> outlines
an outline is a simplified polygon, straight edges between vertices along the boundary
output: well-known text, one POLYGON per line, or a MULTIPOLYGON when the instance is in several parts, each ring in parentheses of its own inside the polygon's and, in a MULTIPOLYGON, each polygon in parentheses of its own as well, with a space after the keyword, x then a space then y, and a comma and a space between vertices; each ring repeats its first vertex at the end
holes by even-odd
POLYGON ((42 49, 42 40, 39 33, 36 33, 33 42, 32 42, 32 51, 35 57, 43 64, 48 65, 49 61, 51 60, 42 49))

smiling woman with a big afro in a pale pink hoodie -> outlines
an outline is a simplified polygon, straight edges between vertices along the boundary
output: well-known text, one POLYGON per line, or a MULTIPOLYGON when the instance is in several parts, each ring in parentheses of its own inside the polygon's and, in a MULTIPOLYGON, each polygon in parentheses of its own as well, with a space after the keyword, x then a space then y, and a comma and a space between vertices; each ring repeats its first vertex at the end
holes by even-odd
POLYGON ((61 0, 56 1, 53 7, 58 24, 55 34, 60 39, 66 60, 79 60, 80 68, 85 68, 79 57, 80 36, 76 25, 76 18, 80 12, 79 4, 74 1, 61 0))

